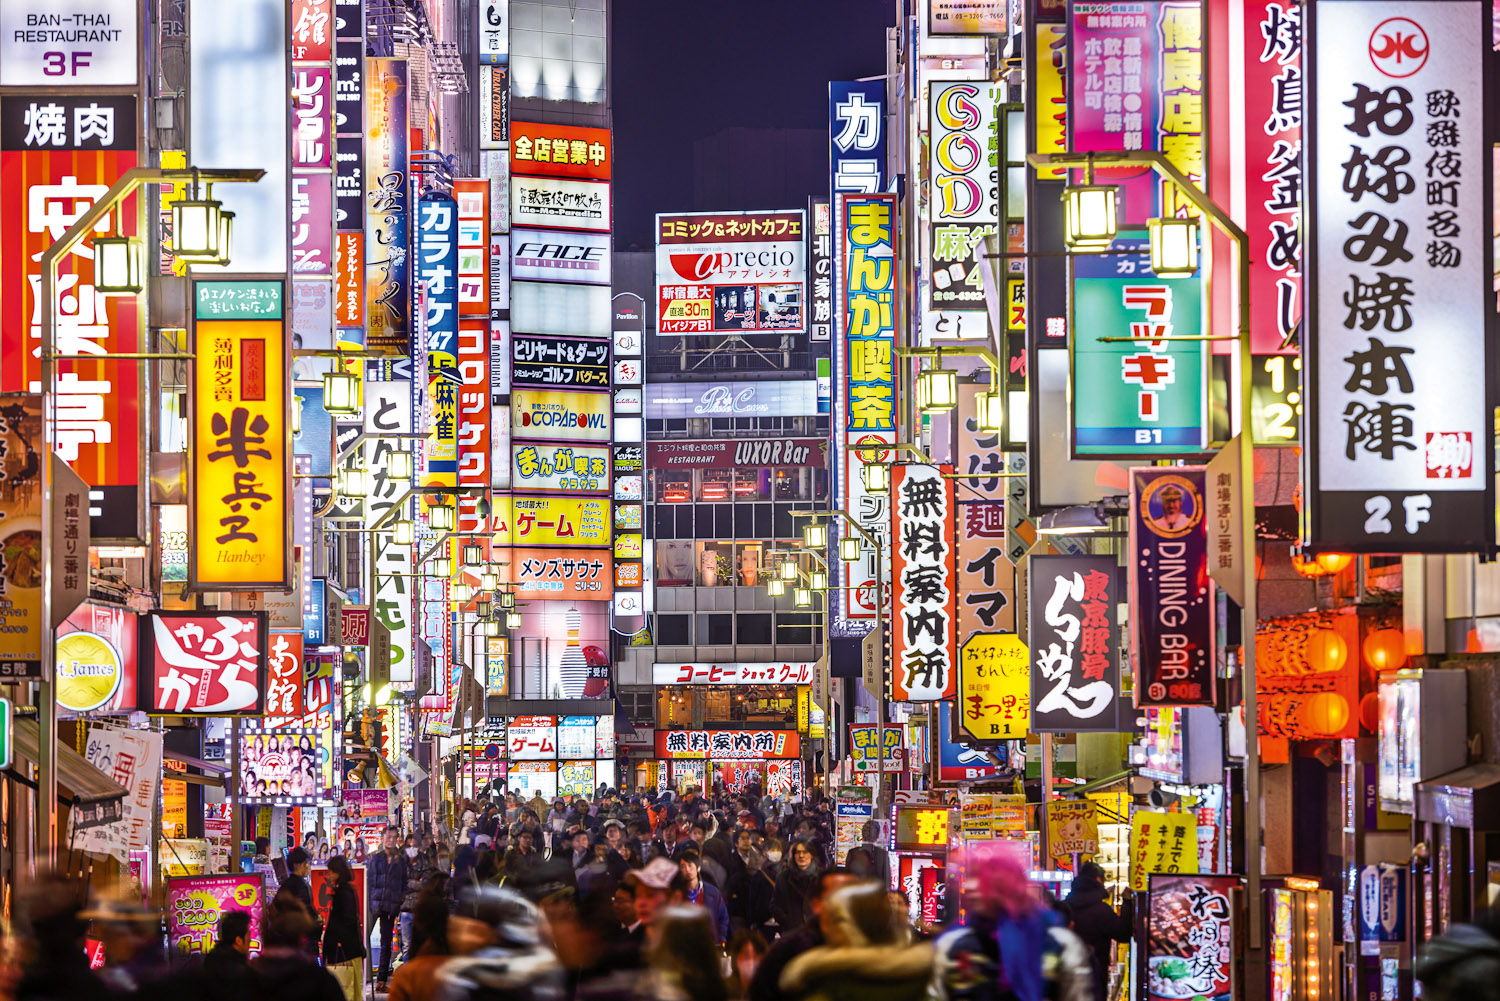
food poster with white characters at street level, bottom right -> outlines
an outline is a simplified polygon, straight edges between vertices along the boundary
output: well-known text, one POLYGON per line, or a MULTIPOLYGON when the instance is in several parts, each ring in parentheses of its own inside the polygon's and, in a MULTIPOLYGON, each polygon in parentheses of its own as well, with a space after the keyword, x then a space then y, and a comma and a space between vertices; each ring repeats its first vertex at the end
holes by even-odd
POLYGON ((1146 917, 1148 1001, 1227 1001, 1232 996, 1233 894, 1239 885, 1239 876, 1150 876, 1150 911, 1146 917))

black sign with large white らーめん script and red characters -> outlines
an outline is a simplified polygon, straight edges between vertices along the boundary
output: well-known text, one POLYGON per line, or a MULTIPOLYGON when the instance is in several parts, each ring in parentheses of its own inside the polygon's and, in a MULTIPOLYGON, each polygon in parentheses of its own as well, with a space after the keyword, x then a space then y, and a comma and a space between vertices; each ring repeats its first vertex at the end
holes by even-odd
POLYGON ((1028 560, 1032 731, 1113 731, 1119 698, 1114 557, 1028 560))

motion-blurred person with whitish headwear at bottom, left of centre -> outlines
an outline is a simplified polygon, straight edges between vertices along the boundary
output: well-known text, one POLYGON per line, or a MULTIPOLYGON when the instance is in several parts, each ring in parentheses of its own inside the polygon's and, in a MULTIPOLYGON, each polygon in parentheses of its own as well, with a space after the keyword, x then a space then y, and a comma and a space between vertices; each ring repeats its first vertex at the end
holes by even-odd
POLYGON ((542 942, 542 912, 507 887, 465 890, 450 944, 454 957, 438 972, 444 1001, 562 998, 562 966, 542 942))

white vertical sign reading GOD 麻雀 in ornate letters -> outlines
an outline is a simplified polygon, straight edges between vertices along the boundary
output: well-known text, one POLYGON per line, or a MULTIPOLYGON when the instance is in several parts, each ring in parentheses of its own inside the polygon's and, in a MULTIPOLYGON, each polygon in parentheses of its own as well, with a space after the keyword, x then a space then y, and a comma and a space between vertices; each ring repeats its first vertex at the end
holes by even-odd
POLYGON ((982 309, 980 254, 999 231, 999 84, 932 89, 928 213, 932 308, 982 309))

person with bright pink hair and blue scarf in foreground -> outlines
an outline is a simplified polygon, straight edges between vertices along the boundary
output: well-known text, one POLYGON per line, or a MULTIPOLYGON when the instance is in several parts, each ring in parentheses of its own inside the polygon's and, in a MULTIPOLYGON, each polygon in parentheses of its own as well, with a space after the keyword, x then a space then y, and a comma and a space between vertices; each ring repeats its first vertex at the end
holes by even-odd
POLYGON ((1026 842, 990 840, 956 852, 948 885, 964 920, 936 942, 938 1001, 1089 1001, 1089 953, 1030 881, 1026 842))

